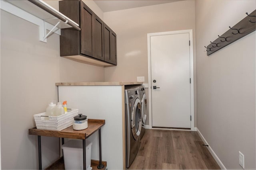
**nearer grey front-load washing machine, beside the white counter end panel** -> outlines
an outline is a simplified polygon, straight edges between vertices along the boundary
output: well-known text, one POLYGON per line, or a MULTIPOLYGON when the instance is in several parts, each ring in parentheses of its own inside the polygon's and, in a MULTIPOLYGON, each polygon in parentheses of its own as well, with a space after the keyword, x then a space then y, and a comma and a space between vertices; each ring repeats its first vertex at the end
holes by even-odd
POLYGON ((125 124, 126 124, 126 168, 132 164, 140 147, 142 112, 138 87, 125 89, 125 124))

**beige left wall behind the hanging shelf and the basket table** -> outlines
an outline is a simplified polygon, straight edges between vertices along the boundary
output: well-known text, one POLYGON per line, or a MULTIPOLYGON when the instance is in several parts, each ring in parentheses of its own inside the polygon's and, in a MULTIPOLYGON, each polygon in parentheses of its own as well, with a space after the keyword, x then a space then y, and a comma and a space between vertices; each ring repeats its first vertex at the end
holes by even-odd
MULTIPOLYGON (((48 3, 58 8, 58 1, 48 3)), ((59 35, 43 43, 38 26, 17 16, 1 10, 0 21, 2 169, 37 169, 37 137, 28 135, 33 115, 58 101, 56 82, 104 81, 104 68, 60 57, 59 35)), ((42 137, 42 168, 58 156, 59 139, 42 137)))

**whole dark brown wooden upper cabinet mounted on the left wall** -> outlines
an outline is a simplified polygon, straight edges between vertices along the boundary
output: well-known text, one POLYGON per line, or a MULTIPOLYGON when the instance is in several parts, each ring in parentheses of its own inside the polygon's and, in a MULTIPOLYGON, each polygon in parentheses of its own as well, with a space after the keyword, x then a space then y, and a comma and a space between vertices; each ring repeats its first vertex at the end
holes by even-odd
POLYGON ((84 2, 62 0, 59 10, 81 28, 81 31, 61 29, 60 56, 116 65, 116 34, 84 2))

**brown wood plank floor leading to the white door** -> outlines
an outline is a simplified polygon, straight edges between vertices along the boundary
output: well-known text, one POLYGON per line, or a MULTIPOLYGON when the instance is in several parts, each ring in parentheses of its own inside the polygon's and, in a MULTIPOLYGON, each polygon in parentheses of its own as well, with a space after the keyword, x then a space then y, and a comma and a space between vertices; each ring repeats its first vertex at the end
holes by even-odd
POLYGON ((130 170, 220 169, 197 132, 146 129, 130 170))

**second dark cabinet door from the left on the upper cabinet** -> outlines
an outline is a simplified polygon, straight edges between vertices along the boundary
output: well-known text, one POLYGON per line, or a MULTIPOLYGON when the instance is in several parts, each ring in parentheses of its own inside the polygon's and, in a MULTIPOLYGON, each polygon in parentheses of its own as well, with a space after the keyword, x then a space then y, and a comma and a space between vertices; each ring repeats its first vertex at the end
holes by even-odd
POLYGON ((104 22, 94 14, 92 21, 93 57, 104 61, 104 22))

